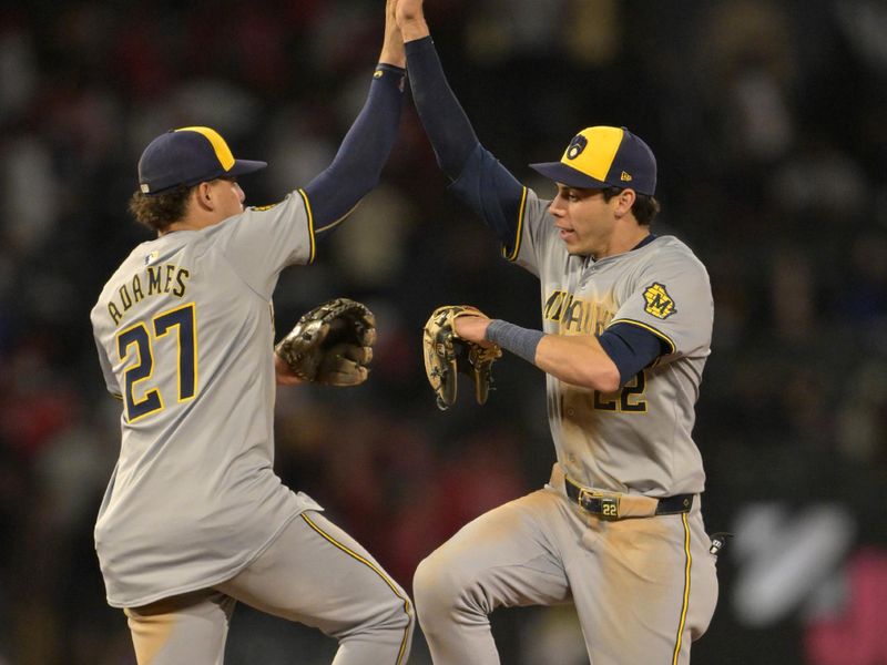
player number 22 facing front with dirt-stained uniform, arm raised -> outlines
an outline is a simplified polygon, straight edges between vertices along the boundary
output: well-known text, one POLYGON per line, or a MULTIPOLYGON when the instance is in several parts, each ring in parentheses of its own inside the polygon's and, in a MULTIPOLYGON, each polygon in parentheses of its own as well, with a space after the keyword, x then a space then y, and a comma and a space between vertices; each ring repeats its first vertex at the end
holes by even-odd
MULTIPOLYGON (((547 374, 557 463, 544 489, 462 528, 418 566, 435 663, 499 662, 488 614, 574 603, 593 665, 690 662, 717 597, 691 438, 713 303, 702 263, 650 231, 656 163, 624 127, 579 132, 533 164, 552 201, 478 142, 445 79, 421 0, 398 0, 412 95, 453 192, 541 286, 542 329, 456 319, 547 374)), ((490 469, 496 473, 496 469, 490 469)))

